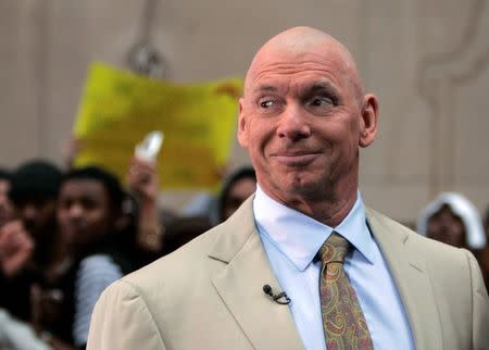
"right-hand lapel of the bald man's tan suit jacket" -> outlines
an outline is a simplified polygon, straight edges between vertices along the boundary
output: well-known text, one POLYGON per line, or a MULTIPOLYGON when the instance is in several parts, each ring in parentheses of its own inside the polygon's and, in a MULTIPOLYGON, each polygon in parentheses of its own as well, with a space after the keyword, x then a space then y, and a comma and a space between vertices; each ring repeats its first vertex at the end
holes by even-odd
POLYGON ((398 286, 416 349, 441 349, 435 293, 426 262, 413 247, 413 237, 406 228, 373 210, 367 210, 367 222, 398 286))

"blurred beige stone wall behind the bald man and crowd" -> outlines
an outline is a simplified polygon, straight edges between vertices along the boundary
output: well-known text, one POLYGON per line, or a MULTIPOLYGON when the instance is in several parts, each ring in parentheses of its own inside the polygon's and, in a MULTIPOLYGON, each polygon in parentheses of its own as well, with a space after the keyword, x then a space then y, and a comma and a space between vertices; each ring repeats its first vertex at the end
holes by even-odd
MULTIPOLYGON (((369 205, 412 223, 436 195, 454 190, 486 209, 484 0, 1 0, 0 163, 62 164, 95 60, 137 68, 139 55, 151 74, 176 83, 244 76, 255 50, 296 25, 342 41, 379 97, 380 132, 361 165, 369 205)), ((231 167, 248 162, 235 145, 231 167)), ((164 192, 160 201, 178 210, 192 196, 164 192)))

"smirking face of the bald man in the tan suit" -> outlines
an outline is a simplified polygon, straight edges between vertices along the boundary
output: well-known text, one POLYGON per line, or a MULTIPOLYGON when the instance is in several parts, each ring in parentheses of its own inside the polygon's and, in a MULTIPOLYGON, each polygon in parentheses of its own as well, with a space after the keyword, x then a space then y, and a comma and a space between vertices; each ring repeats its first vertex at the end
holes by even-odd
POLYGON ((329 53, 262 54, 248 75, 238 139, 262 188, 280 201, 356 188, 363 101, 329 53))

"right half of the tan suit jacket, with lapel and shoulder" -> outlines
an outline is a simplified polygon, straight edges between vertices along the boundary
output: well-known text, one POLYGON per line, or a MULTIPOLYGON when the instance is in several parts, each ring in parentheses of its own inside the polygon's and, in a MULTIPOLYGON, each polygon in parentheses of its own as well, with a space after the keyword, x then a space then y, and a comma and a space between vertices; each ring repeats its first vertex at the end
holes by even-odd
POLYGON ((367 209, 417 349, 489 349, 489 299, 474 255, 367 209))

